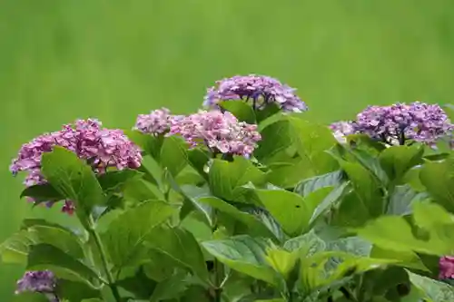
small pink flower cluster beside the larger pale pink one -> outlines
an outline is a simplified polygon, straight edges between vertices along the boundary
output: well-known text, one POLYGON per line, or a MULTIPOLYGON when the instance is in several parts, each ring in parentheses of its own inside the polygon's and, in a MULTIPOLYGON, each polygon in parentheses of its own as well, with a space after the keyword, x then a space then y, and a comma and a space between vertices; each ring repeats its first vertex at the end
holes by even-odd
POLYGON ((134 130, 145 134, 159 135, 169 131, 170 123, 179 116, 172 115, 167 108, 153 110, 149 114, 139 114, 134 130))

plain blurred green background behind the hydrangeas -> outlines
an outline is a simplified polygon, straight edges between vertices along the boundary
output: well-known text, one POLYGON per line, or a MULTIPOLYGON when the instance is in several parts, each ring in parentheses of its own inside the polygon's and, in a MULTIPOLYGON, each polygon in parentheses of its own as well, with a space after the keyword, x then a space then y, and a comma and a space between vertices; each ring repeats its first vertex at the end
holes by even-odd
MULTIPOLYGON (((194 111, 236 73, 298 88, 319 122, 451 102, 453 54, 452 0, 0 0, 0 240, 44 212, 18 199, 11 158, 64 122, 129 128, 156 107, 194 111)), ((2 300, 20 273, 0 264, 2 300)))

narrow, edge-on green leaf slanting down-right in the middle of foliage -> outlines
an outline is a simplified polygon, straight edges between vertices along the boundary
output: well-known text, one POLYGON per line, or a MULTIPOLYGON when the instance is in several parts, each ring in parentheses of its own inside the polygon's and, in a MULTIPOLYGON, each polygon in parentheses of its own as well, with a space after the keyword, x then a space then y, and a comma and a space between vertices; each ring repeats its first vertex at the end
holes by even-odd
POLYGON ((260 219, 254 215, 235 208, 231 204, 218 199, 216 197, 201 197, 198 199, 199 203, 204 205, 209 205, 212 209, 218 209, 222 213, 227 214, 232 219, 242 222, 245 226, 248 227, 249 232, 252 234, 262 234, 267 235, 267 237, 275 237, 276 239, 281 239, 279 234, 275 234, 271 231, 270 228, 262 223, 260 219))

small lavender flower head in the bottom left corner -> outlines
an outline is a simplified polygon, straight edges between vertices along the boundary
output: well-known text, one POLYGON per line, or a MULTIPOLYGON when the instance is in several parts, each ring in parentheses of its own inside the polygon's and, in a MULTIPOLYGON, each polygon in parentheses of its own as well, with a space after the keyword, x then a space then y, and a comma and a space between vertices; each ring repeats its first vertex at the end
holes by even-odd
POLYGON ((51 302, 58 302, 59 299, 55 294, 57 279, 50 270, 27 271, 23 278, 17 281, 15 294, 29 291, 41 293, 49 298, 51 302))

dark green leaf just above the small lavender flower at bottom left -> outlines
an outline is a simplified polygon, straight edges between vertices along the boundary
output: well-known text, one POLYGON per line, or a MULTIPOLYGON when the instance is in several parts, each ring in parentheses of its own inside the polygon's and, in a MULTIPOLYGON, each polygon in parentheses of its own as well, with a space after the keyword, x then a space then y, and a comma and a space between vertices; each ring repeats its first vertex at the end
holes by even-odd
POLYGON ((76 260, 63 250, 49 244, 38 244, 30 247, 27 269, 50 269, 59 278, 83 281, 93 284, 98 276, 82 262, 76 260))

